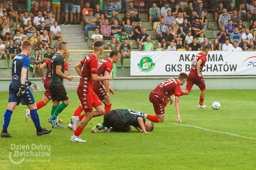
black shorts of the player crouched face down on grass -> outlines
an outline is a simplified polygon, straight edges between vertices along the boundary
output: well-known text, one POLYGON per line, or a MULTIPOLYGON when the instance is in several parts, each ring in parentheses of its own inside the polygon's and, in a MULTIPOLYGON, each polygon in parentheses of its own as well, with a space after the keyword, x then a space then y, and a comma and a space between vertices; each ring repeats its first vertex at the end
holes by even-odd
POLYGON ((113 131, 115 132, 129 132, 131 127, 129 125, 126 125, 123 121, 123 119, 118 115, 116 110, 110 110, 105 116, 104 116, 104 122, 103 125, 106 126, 108 129, 113 128, 113 131))

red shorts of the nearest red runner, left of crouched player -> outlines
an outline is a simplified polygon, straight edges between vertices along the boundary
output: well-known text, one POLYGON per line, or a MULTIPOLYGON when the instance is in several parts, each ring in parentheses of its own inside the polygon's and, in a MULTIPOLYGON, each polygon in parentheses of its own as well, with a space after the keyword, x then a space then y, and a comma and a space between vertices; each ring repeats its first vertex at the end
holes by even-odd
POLYGON ((93 91, 92 92, 77 91, 77 95, 79 97, 79 100, 81 101, 81 105, 84 109, 84 112, 92 112, 92 107, 96 108, 102 105, 99 97, 93 91))

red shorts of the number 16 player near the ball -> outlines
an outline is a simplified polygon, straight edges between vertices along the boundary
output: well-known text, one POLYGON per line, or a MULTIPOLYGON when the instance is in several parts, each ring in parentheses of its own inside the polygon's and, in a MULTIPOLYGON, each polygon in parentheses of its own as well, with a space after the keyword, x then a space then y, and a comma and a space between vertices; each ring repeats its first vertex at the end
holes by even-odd
POLYGON ((200 90, 205 90, 204 78, 198 76, 188 75, 186 90, 191 91, 193 85, 197 85, 200 90))

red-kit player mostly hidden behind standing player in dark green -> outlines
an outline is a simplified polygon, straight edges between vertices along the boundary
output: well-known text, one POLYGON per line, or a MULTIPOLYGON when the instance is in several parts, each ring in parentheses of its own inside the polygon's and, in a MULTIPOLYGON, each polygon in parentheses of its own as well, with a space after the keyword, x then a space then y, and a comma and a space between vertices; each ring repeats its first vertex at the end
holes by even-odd
MULTIPOLYGON (((39 68, 40 74, 41 74, 41 82, 44 83, 44 96, 41 101, 38 101, 36 103, 36 110, 39 110, 40 108, 47 105, 47 103, 51 100, 51 93, 50 93, 50 87, 49 83, 51 81, 51 59, 46 60, 39 68), (44 68, 47 68, 46 72, 46 78, 44 78, 44 68)), ((68 76, 68 63, 64 61, 64 74, 68 76)), ((25 110, 25 121, 28 122, 30 116, 30 110, 25 110)), ((62 122, 61 119, 57 117, 57 122, 62 122)))

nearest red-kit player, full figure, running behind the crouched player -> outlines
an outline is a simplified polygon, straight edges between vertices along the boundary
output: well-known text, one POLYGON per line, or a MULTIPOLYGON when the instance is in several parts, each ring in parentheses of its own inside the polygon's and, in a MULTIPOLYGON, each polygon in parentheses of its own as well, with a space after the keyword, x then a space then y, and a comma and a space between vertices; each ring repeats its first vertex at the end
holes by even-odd
MULTIPOLYGON (((105 77, 100 77, 97 75, 98 58, 103 51, 103 42, 95 41, 93 44, 93 53, 86 55, 85 58, 76 64, 75 69, 80 76, 80 83, 77 87, 77 95, 81 101, 81 105, 84 109, 85 116, 81 120, 79 126, 77 126, 73 136, 70 138, 71 142, 86 142, 81 139, 79 135, 84 130, 84 127, 92 119, 92 117, 100 116, 97 111, 92 111, 92 107, 97 105, 102 107, 99 97, 93 92, 93 81, 104 81, 112 80, 112 76, 107 75, 105 77), (83 69, 82 69, 83 68, 83 69)), ((103 110, 103 113, 105 111, 103 110)), ((76 122, 78 122, 78 117, 75 117, 76 122)), ((73 120, 72 120, 73 121, 73 120)))

